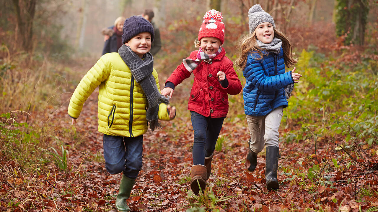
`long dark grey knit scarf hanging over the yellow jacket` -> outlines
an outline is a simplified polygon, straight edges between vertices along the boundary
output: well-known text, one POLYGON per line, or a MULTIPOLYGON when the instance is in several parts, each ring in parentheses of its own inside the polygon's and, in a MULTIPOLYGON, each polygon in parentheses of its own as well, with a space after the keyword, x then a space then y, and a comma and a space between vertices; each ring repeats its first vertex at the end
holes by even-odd
POLYGON ((146 94, 148 101, 146 118, 150 123, 151 130, 154 131, 156 128, 160 127, 160 123, 158 122, 159 104, 169 104, 169 100, 160 94, 158 86, 156 86, 155 77, 152 75, 152 54, 147 52, 144 54, 144 59, 142 60, 142 58, 136 55, 135 52, 126 45, 122 45, 121 48, 118 49, 118 54, 130 68, 135 81, 141 85, 144 94, 146 94))

